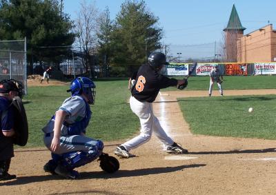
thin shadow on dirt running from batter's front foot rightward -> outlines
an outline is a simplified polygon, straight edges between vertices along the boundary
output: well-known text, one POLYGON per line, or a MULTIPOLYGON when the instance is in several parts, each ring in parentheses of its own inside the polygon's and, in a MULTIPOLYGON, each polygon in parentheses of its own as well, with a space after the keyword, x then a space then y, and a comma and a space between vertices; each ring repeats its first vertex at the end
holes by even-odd
POLYGON ((188 154, 254 154, 254 153, 266 153, 276 152, 276 148, 266 148, 259 150, 231 150, 231 151, 206 151, 206 152, 188 152, 188 154))

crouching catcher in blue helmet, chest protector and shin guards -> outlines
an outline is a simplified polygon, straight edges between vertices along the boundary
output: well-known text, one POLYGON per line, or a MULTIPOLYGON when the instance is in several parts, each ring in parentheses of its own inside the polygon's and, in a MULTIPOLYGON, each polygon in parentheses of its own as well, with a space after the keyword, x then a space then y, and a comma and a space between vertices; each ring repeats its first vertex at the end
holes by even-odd
MULTIPOLYGON (((98 157, 101 161, 108 156, 103 153, 102 141, 86 136, 92 114, 90 105, 95 102, 95 88, 95 83, 86 77, 74 79, 70 90, 67 90, 72 96, 63 102, 43 127, 44 143, 52 152, 52 159, 43 167, 45 172, 64 178, 78 178, 75 167, 86 165, 98 157)), ((116 158, 112 160, 117 161, 116 158)), ((115 166, 114 172, 119 169, 119 162, 106 163, 115 166)))

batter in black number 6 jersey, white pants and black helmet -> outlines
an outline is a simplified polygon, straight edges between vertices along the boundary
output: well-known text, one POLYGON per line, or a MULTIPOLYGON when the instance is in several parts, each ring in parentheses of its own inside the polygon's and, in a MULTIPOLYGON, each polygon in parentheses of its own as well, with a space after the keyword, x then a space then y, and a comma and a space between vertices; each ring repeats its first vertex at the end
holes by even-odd
POLYGON ((137 72, 136 84, 132 87, 130 97, 130 108, 140 119, 140 134, 119 145, 115 154, 121 158, 130 158, 135 155, 130 154, 130 150, 139 147, 150 140, 152 132, 166 145, 166 152, 170 154, 185 154, 188 150, 180 147, 172 141, 152 110, 152 102, 155 101, 159 90, 170 86, 184 85, 186 81, 169 79, 159 74, 159 70, 166 62, 166 56, 161 52, 152 52, 148 57, 148 63, 141 65, 137 72))

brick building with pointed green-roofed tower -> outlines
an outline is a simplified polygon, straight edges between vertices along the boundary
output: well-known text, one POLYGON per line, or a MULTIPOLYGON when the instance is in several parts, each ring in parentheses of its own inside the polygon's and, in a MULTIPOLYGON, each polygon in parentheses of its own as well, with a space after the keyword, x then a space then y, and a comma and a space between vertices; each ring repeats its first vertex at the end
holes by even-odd
POLYGON ((276 61, 276 30, 268 24, 248 34, 239 20, 235 5, 225 32, 226 61, 270 62, 276 61))

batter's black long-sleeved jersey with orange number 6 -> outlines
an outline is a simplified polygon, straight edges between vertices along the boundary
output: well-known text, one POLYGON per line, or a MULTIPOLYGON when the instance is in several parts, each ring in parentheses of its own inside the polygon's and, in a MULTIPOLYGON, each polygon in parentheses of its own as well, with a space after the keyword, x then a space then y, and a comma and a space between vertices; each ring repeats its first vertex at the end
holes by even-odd
POLYGON ((158 74, 152 66, 141 65, 137 72, 136 84, 131 89, 132 96, 138 101, 155 101, 160 89, 177 85, 177 79, 169 79, 158 74))

